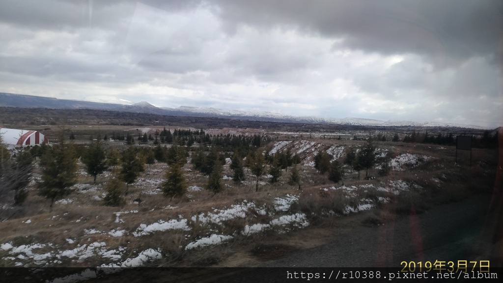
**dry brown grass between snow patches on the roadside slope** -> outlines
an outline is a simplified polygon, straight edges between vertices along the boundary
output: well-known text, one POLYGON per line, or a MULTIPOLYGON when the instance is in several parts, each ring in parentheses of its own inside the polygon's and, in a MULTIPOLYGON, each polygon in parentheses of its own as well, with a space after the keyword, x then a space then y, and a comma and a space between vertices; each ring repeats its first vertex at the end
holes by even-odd
MULTIPOLYGON (((322 140, 322 142, 327 142, 327 145, 343 144, 345 146, 362 144, 360 141, 322 140)), ((341 222, 343 218, 341 216, 344 215, 347 206, 357 207, 360 199, 370 199, 374 207, 362 212, 363 219, 355 223, 345 222, 345 225, 380 225, 392 222, 400 215, 410 214, 411 211, 421 213, 432 205, 458 201, 473 193, 492 188, 493 169, 496 163, 494 162, 495 155, 491 151, 474 151, 470 168, 464 164, 460 166, 454 164, 452 147, 445 147, 446 149, 423 145, 398 147, 394 143, 381 143, 379 146, 389 150, 392 156, 408 152, 425 154, 431 156, 432 159, 407 171, 391 171, 388 176, 375 180, 363 180, 364 171, 360 179, 357 178, 357 174, 348 174, 344 178, 345 185, 358 187, 351 195, 344 190, 330 189, 332 186, 340 187, 342 183, 330 182, 326 176, 317 174, 316 170, 309 166, 301 167, 302 191, 299 191, 296 186, 287 184, 290 172, 283 171, 283 176, 277 184, 270 184, 266 177, 262 177, 259 191, 256 192, 255 176, 245 170, 246 182, 235 183, 232 180, 222 180, 224 190, 216 195, 204 189, 208 177, 196 171, 186 170, 184 173, 188 184, 200 187, 201 190, 189 191, 182 198, 170 199, 162 197, 161 193, 147 193, 158 188, 159 182, 141 181, 130 185, 130 193, 126 196, 126 204, 123 207, 103 206, 103 202, 95 198, 102 194, 102 188, 109 177, 98 176, 96 186, 92 186, 93 180, 90 176, 80 175, 78 183, 96 187, 96 190, 74 191, 65 197, 72 199, 73 202, 55 203, 52 210, 49 209, 49 201, 37 196, 35 187, 32 187, 26 203, 18 208, 18 213, 10 220, 0 222, 0 243, 10 242, 13 245, 22 245, 50 241, 59 249, 72 249, 77 244, 106 242, 107 248, 128 247, 123 258, 135 256, 139 251, 147 248, 160 248, 163 254, 162 260, 151 263, 156 266, 208 266, 220 262, 229 254, 239 252, 241 247, 251 250, 259 247, 265 240, 286 241, 284 237, 287 236, 279 236, 274 229, 250 236, 239 234, 246 225, 267 224, 273 217, 279 215, 304 213, 311 226, 324 227, 327 223, 333 225, 341 222), (376 189, 376 187, 388 186, 393 180, 402 180, 420 187, 404 191, 399 195, 376 189), (362 187, 369 184, 374 187, 362 187), (289 211, 275 211, 273 208, 275 197, 284 197, 286 194, 297 194, 300 198, 289 211), (382 201, 383 198, 387 198, 388 201, 382 201), (135 199, 141 199, 141 201, 134 203, 135 199), (245 200, 253 201, 257 206, 266 207, 267 214, 260 215, 249 211, 246 217, 223 221, 223 225, 200 225, 189 221, 190 231, 169 230, 153 232, 142 237, 133 235, 140 224, 149 225, 158 221, 190 219, 192 216, 207 214, 214 209, 229 208, 245 200), (138 210, 138 212, 123 214, 120 216, 123 223, 115 222, 114 213, 131 210, 138 210), (31 220, 30 224, 22 223, 28 219, 31 220), (87 234, 86 229, 99 230, 104 234, 87 234), (110 237, 107 233, 114 229, 125 230, 127 235, 110 237), (190 251, 184 249, 188 243, 211 234, 233 235, 234 238, 221 245, 190 251), (76 242, 70 244, 66 239, 73 239, 76 242)), ((165 164, 147 166, 146 171, 139 178, 144 180, 163 178, 166 168, 165 164)), ((186 165, 184 168, 192 169, 191 165, 186 165)), ((228 166, 225 166, 224 175, 232 176, 228 166)), ((376 170, 369 170, 369 175, 377 176, 376 170)), ((270 253, 274 254, 274 251, 270 253)), ((0 257, 5 256, 7 256, 6 252, 0 250, 0 257)), ((261 256, 260 253, 258 256, 261 256)), ((65 259, 60 266, 93 266, 103 263, 100 260, 103 259, 90 258, 81 262, 65 259)), ((8 262, 0 260, 0 266, 5 264, 8 262)))

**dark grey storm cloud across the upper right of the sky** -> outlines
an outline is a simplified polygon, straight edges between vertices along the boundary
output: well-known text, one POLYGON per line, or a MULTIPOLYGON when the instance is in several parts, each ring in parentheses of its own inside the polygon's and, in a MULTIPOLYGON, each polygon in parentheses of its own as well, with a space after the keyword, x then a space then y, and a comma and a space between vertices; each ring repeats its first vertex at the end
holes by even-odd
POLYGON ((503 19, 497 0, 246 1, 214 0, 227 29, 240 24, 293 25, 344 38, 352 49, 416 53, 438 64, 494 56, 503 19))

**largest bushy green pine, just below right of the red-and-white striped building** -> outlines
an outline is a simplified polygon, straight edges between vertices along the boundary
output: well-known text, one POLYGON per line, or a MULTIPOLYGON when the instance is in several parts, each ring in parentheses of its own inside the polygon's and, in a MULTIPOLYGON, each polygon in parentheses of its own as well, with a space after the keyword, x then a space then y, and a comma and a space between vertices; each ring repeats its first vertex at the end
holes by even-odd
POLYGON ((39 194, 51 200, 52 208, 54 200, 69 194, 69 187, 76 182, 77 160, 73 145, 66 144, 61 135, 59 144, 46 150, 40 158, 40 167, 39 194))

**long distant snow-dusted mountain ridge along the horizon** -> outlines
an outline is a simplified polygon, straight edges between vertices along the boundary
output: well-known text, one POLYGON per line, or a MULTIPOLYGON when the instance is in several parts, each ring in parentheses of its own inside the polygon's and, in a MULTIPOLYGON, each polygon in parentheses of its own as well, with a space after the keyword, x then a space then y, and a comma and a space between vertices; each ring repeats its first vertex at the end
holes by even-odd
POLYGON ((148 102, 142 101, 133 105, 100 103, 78 100, 65 100, 57 98, 47 98, 31 95, 0 93, 0 106, 22 107, 22 108, 52 108, 52 109, 101 109, 135 113, 148 113, 169 116, 196 116, 196 117, 217 117, 230 119, 243 119, 255 121, 273 122, 298 122, 298 123, 319 123, 354 126, 421 126, 421 127, 459 127, 472 129, 487 129, 475 125, 463 125, 453 123, 438 122, 413 122, 400 120, 374 120, 366 118, 322 118, 315 116, 292 116, 271 112, 253 112, 239 110, 223 110, 218 108, 204 108, 192 106, 180 106, 177 108, 156 107, 148 102))

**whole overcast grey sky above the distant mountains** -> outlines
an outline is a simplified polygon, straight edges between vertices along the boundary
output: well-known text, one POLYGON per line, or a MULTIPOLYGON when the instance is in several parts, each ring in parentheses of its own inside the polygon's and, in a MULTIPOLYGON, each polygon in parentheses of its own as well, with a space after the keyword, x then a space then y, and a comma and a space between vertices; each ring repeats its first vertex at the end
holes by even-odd
POLYGON ((0 92, 494 127, 502 26, 500 0, 2 0, 0 92))

